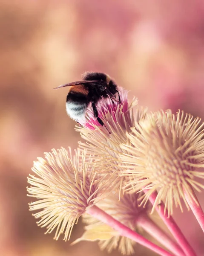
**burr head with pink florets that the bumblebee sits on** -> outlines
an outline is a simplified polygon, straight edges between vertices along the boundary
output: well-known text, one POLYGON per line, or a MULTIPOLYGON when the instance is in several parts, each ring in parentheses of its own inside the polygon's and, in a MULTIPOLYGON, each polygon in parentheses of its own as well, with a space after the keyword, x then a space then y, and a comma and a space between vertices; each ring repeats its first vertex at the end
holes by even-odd
POLYGON ((127 91, 119 90, 121 102, 112 102, 111 99, 104 99, 97 105, 98 113, 105 127, 100 127, 98 121, 91 112, 87 113, 86 128, 77 128, 81 137, 86 143, 80 142, 80 147, 85 148, 95 160, 100 163, 102 172, 109 175, 109 184, 121 188, 124 186, 125 177, 119 176, 119 153, 121 143, 126 143, 126 132, 130 132, 135 123, 145 118, 146 111, 137 108, 133 114, 133 107, 137 105, 137 99, 129 103, 127 91), (94 129, 94 130, 93 130, 94 129))

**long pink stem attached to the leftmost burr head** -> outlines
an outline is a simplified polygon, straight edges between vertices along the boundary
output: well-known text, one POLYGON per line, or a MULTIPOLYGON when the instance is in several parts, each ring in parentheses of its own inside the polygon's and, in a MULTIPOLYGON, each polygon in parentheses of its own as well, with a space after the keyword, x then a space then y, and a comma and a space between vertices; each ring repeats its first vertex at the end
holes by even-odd
POLYGON ((153 244, 149 240, 145 239, 143 236, 131 230, 129 227, 126 227, 124 224, 117 221, 115 218, 113 218, 111 215, 107 214, 97 206, 94 205, 90 208, 87 208, 86 213, 92 215, 94 218, 102 221, 103 223, 106 223, 113 229, 117 230, 121 236, 128 237, 129 239, 136 241, 138 244, 144 245, 145 247, 149 248, 155 253, 158 253, 161 256, 172 256, 171 253, 168 253, 166 250, 162 249, 156 244, 153 244))

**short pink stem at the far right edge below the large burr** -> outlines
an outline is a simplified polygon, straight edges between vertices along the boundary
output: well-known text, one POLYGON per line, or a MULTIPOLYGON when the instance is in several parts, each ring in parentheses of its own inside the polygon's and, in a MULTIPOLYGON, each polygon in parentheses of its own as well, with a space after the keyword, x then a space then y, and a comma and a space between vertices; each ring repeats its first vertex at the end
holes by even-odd
POLYGON ((204 212, 201 208, 201 205, 198 202, 198 198, 196 197, 195 192, 193 191, 192 188, 189 188, 189 189, 190 191, 187 192, 187 190, 183 187, 184 196, 186 198, 188 205, 190 206, 190 209, 195 215, 195 218, 197 219, 199 225, 201 226, 201 229, 204 232, 204 212), (193 195, 193 197, 191 195, 193 195), (193 198, 195 198, 195 200, 197 201, 197 204, 195 200, 193 200, 193 198))

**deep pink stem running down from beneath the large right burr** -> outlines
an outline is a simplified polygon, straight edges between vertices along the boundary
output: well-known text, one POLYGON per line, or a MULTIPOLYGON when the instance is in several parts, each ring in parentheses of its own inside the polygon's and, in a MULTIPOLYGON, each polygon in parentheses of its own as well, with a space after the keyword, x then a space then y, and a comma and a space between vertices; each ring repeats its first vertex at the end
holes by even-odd
MULTIPOLYGON (((144 192, 147 193, 148 189, 144 189, 144 192)), ((153 192, 149 196, 149 201, 151 202, 152 205, 154 205, 157 195, 158 195, 157 192, 153 192)), ((164 224, 167 226, 167 228, 170 230, 170 232, 174 236, 175 240, 180 245, 181 249, 186 254, 186 256, 196 256, 193 248, 190 246, 189 242, 184 237, 184 234, 181 232, 181 230, 179 229, 179 227, 175 223, 175 221, 172 218, 172 216, 168 217, 167 210, 164 213, 164 203, 161 202, 161 204, 159 204, 159 206, 156 205, 155 209, 158 212, 158 215, 164 221, 164 224)))

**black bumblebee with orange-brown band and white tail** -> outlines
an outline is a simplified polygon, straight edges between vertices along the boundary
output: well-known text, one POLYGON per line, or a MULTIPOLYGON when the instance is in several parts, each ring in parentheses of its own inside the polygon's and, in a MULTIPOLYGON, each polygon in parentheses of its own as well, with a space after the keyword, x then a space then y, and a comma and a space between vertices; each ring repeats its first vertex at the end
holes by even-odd
POLYGON ((83 119, 89 104, 92 105, 95 118, 100 125, 104 125, 98 116, 97 103, 103 97, 110 97, 112 102, 120 102, 118 87, 115 82, 105 73, 87 72, 83 75, 83 80, 69 84, 62 84, 54 89, 70 86, 66 96, 66 112, 70 118, 77 122, 83 119), (116 99, 118 95, 118 100, 116 99))

